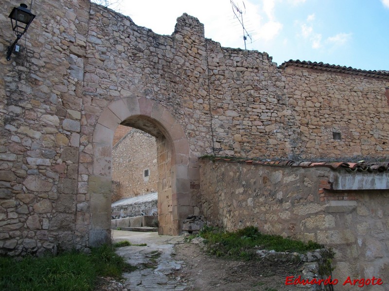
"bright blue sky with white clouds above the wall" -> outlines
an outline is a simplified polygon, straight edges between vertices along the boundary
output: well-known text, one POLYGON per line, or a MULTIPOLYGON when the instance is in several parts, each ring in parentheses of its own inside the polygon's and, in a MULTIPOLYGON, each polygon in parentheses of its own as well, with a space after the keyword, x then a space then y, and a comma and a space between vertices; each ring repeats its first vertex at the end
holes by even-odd
MULTIPOLYGON (((119 0, 137 25, 171 34, 184 12, 204 23, 205 36, 244 48, 230 0, 119 0)), ((389 0, 234 0, 252 43, 281 65, 293 59, 389 70, 389 0), (245 9, 246 7, 246 9, 245 9)), ((112 8, 116 8, 113 7, 112 8)))

